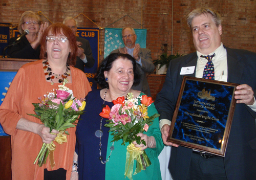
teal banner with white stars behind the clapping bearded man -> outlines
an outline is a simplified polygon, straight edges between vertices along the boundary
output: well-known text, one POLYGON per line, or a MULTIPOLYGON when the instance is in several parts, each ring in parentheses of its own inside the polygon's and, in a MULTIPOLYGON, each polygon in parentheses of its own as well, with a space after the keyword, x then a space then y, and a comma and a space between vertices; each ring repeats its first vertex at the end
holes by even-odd
MULTIPOLYGON (((140 44, 141 48, 146 48, 146 29, 134 29, 137 39, 136 43, 140 44)), ((105 28, 105 46, 104 58, 119 47, 123 48, 121 28, 105 28)))

